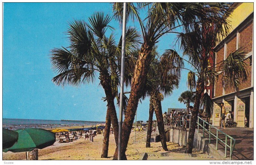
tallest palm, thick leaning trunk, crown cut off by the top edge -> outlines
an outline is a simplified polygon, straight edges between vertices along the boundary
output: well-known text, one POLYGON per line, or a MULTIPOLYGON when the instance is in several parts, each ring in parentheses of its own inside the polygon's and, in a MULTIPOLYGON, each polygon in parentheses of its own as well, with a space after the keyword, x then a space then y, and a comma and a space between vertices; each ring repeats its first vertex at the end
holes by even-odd
MULTIPOLYGON (((131 80, 131 93, 126 108, 123 132, 121 155, 122 160, 128 144, 132 129, 138 100, 143 94, 146 85, 149 64, 152 61, 151 51, 162 35, 167 33, 177 33, 180 27, 186 32, 194 31, 194 26, 202 22, 223 22, 220 18, 225 14, 229 5, 225 3, 127 3, 127 20, 136 18, 139 21, 143 43, 137 59, 131 80), (140 17, 139 10, 146 10, 146 18, 140 17)), ((113 10, 117 19, 122 19, 122 3, 114 3, 113 10)), ((226 28, 226 27, 225 27, 226 28)), ((174 63, 175 61, 173 61, 174 63)), ((179 69, 174 70, 179 74, 179 69)), ((117 159, 118 148, 114 154, 117 159)))

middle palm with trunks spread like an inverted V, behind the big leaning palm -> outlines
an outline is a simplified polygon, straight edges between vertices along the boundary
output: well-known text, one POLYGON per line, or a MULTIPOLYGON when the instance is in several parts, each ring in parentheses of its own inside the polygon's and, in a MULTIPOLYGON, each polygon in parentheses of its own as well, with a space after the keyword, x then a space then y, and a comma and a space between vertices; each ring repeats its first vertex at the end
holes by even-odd
POLYGON ((171 95, 175 87, 178 88, 180 80, 176 75, 172 74, 171 70, 173 67, 171 63, 168 63, 166 58, 168 58, 168 54, 164 53, 160 61, 152 61, 148 70, 145 88, 146 95, 150 96, 146 147, 150 147, 153 111, 155 110, 160 139, 165 151, 168 148, 166 145, 161 101, 164 97, 171 95))

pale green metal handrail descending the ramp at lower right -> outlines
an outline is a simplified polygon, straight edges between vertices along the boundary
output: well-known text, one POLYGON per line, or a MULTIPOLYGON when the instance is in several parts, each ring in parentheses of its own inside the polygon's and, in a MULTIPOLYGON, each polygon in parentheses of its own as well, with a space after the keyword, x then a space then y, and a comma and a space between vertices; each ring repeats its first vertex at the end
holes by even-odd
POLYGON ((199 133, 199 126, 202 127, 203 129, 203 138, 204 138, 204 133, 205 131, 208 132, 207 134, 209 135, 209 143, 211 143, 211 135, 214 136, 216 138, 216 150, 218 150, 218 141, 222 142, 225 145, 225 158, 227 157, 227 147, 230 148, 230 160, 232 159, 232 154, 233 154, 233 150, 236 144, 236 139, 232 138, 231 136, 229 136, 228 134, 222 132, 221 130, 217 129, 216 127, 212 126, 210 123, 208 123, 207 121, 203 120, 200 117, 197 117, 197 132, 199 133), (203 125, 202 125, 203 124, 203 125), (209 129, 205 128, 205 126, 209 126, 209 129), (216 135, 212 132, 211 128, 216 130, 216 135), (222 133, 223 135, 225 135, 225 141, 221 140, 219 137, 219 133, 222 133), (228 145, 228 138, 230 139, 230 145, 228 145), (233 143, 232 143, 233 140, 233 143))

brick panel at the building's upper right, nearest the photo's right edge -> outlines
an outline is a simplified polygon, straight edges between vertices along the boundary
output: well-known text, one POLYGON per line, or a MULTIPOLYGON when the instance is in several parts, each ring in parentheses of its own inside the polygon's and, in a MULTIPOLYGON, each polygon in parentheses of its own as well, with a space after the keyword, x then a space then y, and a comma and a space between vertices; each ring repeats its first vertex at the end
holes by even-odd
POLYGON ((243 47, 244 51, 248 53, 252 51, 252 31, 252 22, 249 23, 249 25, 247 25, 244 29, 239 31, 239 47, 243 47))

